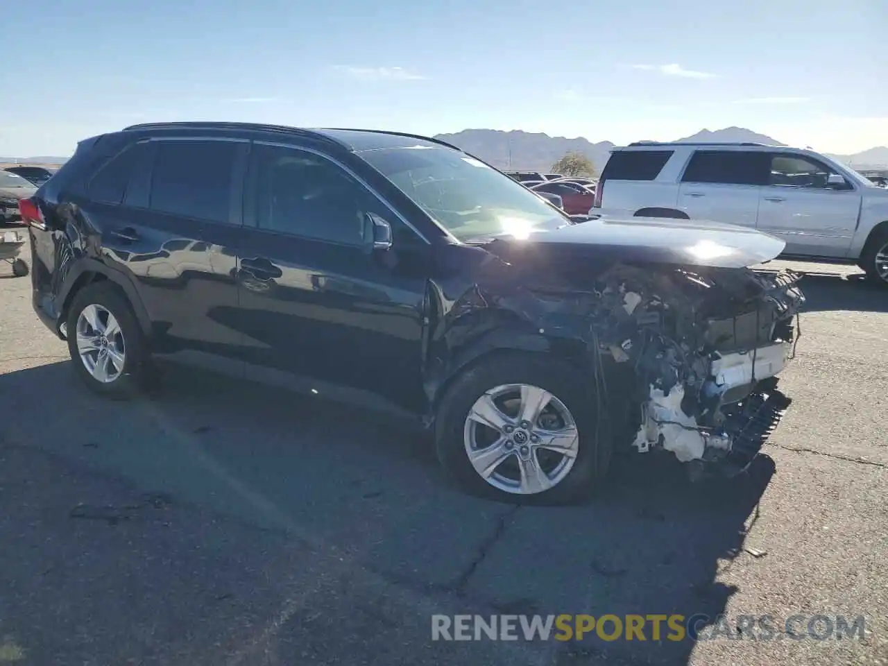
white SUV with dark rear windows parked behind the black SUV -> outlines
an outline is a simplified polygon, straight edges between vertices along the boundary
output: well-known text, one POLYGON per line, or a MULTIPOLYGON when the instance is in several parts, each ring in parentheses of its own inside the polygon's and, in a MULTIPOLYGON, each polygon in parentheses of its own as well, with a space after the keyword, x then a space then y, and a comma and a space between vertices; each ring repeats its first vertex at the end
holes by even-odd
POLYGON ((654 142, 614 148, 590 213, 750 226, 785 241, 785 256, 856 263, 888 286, 888 190, 811 150, 654 142))

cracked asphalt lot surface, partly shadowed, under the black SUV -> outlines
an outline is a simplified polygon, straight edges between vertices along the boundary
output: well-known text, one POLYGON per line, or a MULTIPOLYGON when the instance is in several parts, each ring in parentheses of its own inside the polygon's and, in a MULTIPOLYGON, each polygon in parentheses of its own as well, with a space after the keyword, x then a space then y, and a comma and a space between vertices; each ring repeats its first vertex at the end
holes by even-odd
POLYGON ((792 266, 794 402, 749 474, 633 458, 570 508, 464 496, 421 432, 319 398, 168 368, 101 400, 0 266, 0 663, 888 663, 888 291, 792 266), (509 613, 867 629, 432 641, 432 614, 509 613))

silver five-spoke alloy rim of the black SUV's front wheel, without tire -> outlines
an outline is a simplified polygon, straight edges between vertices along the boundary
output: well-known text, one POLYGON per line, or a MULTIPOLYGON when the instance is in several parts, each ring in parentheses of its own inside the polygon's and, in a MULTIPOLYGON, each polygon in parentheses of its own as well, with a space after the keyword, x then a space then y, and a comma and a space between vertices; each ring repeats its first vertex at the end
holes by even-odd
POLYGON ((565 404, 526 384, 501 385, 480 396, 464 425, 465 453, 494 488, 536 495, 573 469, 579 432, 565 404))

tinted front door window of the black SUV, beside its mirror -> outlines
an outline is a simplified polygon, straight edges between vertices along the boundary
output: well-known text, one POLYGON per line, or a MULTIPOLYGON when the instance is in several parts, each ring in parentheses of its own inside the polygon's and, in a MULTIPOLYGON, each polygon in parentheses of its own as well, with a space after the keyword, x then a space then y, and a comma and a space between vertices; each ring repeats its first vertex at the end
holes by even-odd
POLYGON ((256 178, 262 229, 360 245, 366 213, 385 217, 366 187, 320 155, 260 147, 256 178))

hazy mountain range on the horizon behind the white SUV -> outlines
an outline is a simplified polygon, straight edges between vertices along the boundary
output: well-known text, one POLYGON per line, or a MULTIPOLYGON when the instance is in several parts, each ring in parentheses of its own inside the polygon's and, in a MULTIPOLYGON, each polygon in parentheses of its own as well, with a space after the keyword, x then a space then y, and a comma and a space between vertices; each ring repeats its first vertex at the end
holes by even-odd
MULTIPOLYGON (((520 130, 464 130, 456 134, 437 134, 435 139, 454 144, 498 169, 543 172, 550 170, 551 165, 568 151, 586 155, 600 170, 607 163, 610 151, 614 148, 614 144, 610 141, 592 143, 583 137, 566 139, 520 130)), ((701 143, 747 141, 764 143, 768 146, 786 146, 777 139, 742 127, 725 127, 716 131, 702 130, 690 137, 676 140, 701 143)), ((854 155, 829 156, 839 162, 852 164, 855 168, 888 165, 888 147, 884 146, 870 148, 854 155)))

